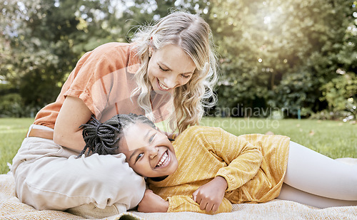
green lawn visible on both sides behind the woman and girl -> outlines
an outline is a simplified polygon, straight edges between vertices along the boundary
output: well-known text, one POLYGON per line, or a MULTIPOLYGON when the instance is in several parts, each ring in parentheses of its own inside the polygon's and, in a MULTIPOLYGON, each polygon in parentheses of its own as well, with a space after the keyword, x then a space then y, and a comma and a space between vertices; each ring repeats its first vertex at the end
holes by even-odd
MULTIPOLYGON (((19 149, 33 118, 0 118, 0 174, 19 149)), ((357 158, 357 125, 321 120, 266 120, 206 117, 201 125, 222 127, 234 135, 273 132, 331 158, 357 158)))

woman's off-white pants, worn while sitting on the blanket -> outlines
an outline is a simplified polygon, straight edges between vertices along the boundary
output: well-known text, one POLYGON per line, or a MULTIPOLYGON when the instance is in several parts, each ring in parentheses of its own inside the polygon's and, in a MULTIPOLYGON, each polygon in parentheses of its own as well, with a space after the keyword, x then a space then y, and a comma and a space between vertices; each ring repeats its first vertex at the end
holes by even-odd
POLYGON ((26 137, 13 159, 16 196, 39 210, 92 203, 100 209, 115 204, 119 211, 134 208, 144 197, 144 178, 129 167, 124 154, 76 155, 53 140, 26 137))

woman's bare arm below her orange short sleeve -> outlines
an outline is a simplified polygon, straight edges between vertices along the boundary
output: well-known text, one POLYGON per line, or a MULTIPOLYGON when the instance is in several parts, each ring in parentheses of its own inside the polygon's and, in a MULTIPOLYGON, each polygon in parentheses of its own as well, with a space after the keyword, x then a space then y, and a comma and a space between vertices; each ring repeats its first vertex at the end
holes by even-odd
POLYGON ((54 142, 81 152, 86 144, 79 126, 88 122, 91 115, 92 112, 80 98, 67 96, 54 125, 54 142))

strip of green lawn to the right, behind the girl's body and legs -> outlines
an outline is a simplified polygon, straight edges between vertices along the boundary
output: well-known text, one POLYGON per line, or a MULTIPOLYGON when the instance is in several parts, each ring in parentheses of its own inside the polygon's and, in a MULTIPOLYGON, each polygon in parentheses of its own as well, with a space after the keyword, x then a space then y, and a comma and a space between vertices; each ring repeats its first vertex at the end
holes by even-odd
POLYGON ((273 132, 333 159, 357 158, 357 125, 349 122, 206 117, 201 125, 222 127, 234 135, 273 132))

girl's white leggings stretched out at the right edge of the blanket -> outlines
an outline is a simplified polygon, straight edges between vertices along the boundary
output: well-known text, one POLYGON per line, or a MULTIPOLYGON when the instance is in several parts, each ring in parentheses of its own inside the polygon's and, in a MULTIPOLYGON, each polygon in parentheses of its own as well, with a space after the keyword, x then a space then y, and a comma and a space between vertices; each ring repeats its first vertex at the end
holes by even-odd
POLYGON ((290 142, 288 167, 277 199, 326 208, 357 206, 357 165, 335 159, 290 142))

